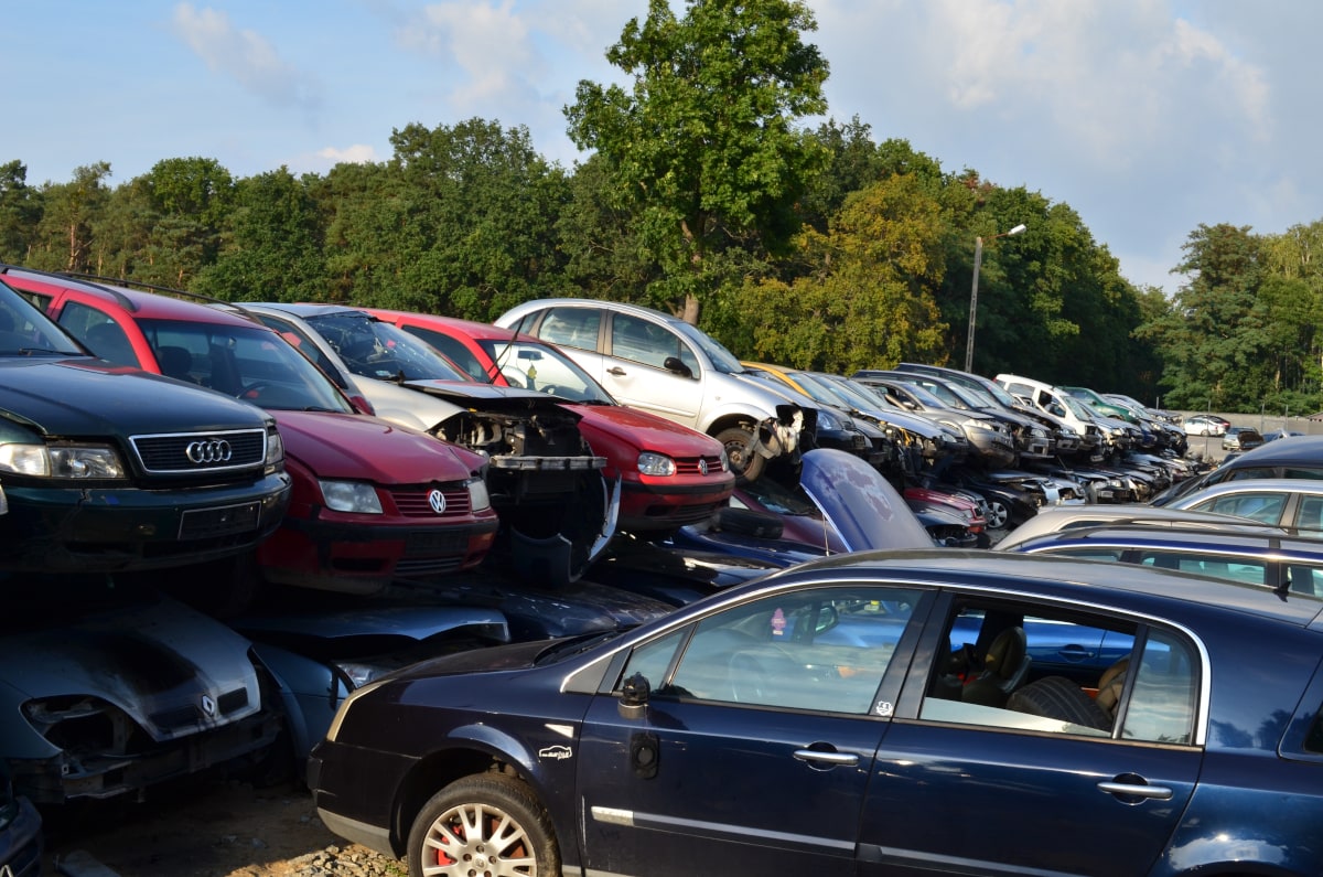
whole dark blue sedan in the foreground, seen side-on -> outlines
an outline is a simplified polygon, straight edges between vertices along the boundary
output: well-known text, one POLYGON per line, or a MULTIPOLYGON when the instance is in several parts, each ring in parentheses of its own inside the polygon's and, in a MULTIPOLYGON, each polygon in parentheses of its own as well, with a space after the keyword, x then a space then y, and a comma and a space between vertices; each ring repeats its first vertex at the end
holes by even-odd
POLYGON ((308 784, 410 874, 1316 876, 1320 609, 1129 564, 839 555, 369 684, 308 784), (1044 627, 1126 648, 1033 653, 1044 627))

